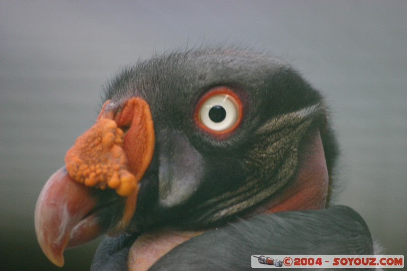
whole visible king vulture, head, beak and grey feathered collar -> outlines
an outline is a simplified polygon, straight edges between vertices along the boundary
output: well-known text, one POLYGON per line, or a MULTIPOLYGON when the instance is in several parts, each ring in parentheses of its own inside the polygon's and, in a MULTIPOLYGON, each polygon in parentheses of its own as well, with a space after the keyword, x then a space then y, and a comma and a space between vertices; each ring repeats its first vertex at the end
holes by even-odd
POLYGON ((94 270, 372 254, 363 219, 328 207, 337 144, 327 106, 285 62, 235 48, 166 53, 124 69, 103 103, 37 202, 38 242, 54 264, 102 234, 94 270))

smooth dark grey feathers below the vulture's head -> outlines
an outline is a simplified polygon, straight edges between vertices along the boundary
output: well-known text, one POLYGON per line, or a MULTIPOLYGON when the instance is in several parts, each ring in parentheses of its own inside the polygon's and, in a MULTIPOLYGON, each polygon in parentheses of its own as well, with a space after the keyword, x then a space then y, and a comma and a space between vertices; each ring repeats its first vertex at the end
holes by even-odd
POLYGON ((363 219, 338 205, 229 223, 181 244, 150 270, 251 270, 253 254, 371 255, 373 244, 363 219))

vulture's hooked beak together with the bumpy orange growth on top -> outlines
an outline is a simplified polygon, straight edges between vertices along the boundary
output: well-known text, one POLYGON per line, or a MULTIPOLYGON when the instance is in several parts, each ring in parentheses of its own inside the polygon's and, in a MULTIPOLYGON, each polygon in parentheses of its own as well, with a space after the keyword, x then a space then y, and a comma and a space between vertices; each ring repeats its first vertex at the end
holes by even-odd
POLYGON ((48 179, 37 201, 37 239, 51 262, 63 266, 65 248, 127 228, 154 142, 146 101, 103 105, 95 125, 78 137, 67 152, 66 167, 48 179))

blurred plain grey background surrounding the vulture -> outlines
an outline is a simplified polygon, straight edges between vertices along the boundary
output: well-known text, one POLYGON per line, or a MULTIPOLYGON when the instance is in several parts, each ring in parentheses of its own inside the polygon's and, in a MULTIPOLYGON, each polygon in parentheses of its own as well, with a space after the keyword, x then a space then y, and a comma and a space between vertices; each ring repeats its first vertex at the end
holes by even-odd
MULTIPOLYGON (((320 89, 342 150, 337 202, 406 254, 407 1, 0 1, 1 270, 58 269, 34 232, 42 186, 120 67, 187 44, 270 52, 320 89)), ((59 270, 89 269, 96 246, 59 270)))

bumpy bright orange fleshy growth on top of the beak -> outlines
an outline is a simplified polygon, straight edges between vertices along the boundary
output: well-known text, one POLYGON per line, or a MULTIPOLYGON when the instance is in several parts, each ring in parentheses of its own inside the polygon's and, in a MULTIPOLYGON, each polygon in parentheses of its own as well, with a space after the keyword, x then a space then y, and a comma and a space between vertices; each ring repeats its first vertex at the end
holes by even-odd
POLYGON ((153 156, 154 140, 150 108, 144 100, 129 99, 122 108, 107 101, 95 125, 68 150, 67 171, 88 187, 109 187, 123 197, 137 194, 137 184, 153 156), (124 135, 121 128, 128 126, 131 129, 124 135))

